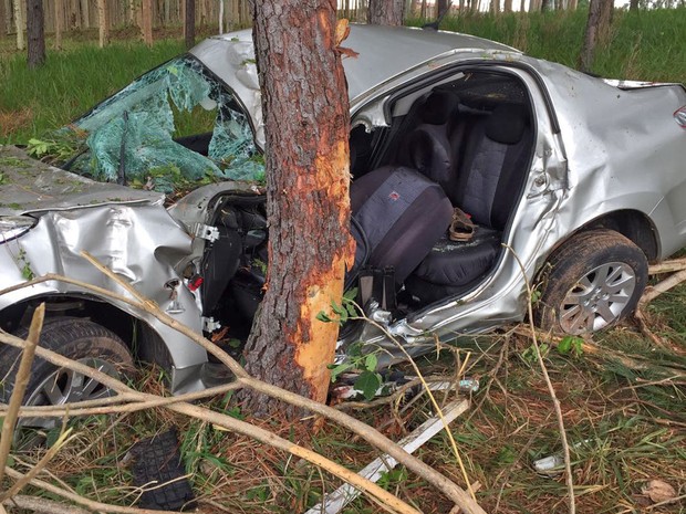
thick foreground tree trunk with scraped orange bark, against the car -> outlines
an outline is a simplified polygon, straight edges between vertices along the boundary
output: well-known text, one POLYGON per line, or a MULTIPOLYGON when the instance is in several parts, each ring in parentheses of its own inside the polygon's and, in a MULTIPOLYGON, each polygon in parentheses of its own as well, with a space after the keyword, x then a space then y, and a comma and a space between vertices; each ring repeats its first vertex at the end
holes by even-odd
MULTIPOLYGON (((256 0, 253 39, 266 126, 269 275, 246 345, 246 370, 325 401, 337 325, 316 319, 343 294, 354 259, 347 87, 335 0, 256 0)), ((245 391, 258 417, 300 409, 245 391)))

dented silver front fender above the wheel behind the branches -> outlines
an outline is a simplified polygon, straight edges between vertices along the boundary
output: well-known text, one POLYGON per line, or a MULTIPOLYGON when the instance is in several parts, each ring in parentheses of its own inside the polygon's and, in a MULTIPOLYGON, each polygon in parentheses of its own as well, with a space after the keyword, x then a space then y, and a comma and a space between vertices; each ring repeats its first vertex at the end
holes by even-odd
MULTIPOLYGON (((75 279, 115 295, 129 296, 124 289, 94 268, 87 252, 153 301, 174 321, 202 333, 201 308, 184 285, 175 265, 191 250, 191 238, 162 204, 105 204, 73 210, 54 210, 39 217, 37 225, 22 237, 0 245, 0 289, 22 284, 49 273, 75 279), (170 287, 175 284, 176 287, 170 287)), ((0 296, 0 311, 31 298, 55 295, 90 295, 146 323, 164 342, 173 369, 196 369, 207 361, 206 350, 187 336, 165 325, 144 308, 123 298, 89 291, 77 284, 48 281, 17 289, 0 296)), ((201 384, 187 382, 184 389, 201 384)), ((173 382, 174 382, 173 378, 173 382)), ((176 379, 179 382, 179 379, 176 379)), ((177 384, 180 387, 180 382, 177 384)), ((173 389, 175 389, 173 384, 173 389)), ((176 387, 178 389, 178 387, 176 387)))

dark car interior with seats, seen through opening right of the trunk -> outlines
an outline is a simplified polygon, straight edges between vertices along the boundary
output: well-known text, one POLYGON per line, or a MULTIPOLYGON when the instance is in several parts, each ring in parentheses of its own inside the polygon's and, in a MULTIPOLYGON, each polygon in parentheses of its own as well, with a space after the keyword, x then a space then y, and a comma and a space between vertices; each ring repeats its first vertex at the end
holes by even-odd
POLYGON ((393 266, 397 304, 412 311, 469 291, 493 269, 534 128, 524 85, 506 73, 460 73, 397 98, 391 112, 389 127, 352 133, 353 233, 366 234, 356 239, 367 259, 356 261, 393 266), (407 202, 399 214, 397 195, 407 202), (449 237, 454 208, 475 225, 466 240, 449 237))

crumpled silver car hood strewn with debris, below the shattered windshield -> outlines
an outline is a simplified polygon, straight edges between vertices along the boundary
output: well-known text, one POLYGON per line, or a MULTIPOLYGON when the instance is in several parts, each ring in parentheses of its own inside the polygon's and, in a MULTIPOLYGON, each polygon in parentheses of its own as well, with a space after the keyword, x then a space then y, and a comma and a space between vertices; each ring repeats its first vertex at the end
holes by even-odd
POLYGON ((163 201, 163 193, 96 182, 35 160, 14 146, 0 146, 0 216, 163 201))

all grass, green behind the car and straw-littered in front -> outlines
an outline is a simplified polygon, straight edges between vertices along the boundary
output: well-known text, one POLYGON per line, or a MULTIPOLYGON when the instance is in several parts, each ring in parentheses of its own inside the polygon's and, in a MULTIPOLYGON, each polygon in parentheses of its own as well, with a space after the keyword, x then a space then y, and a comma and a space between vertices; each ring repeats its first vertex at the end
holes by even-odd
MULTIPOLYGON (((584 23, 585 13, 580 11, 455 18, 446 20, 445 28, 574 66, 584 23)), ((183 51, 179 40, 159 41, 147 49, 133 41, 137 35, 131 31, 118 34, 105 50, 96 48, 93 33, 90 40, 69 40, 63 52, 49 52, 46 65, 35 71, 27 70, 24 56, 11 51, 12 41, 0 40, 0 143, 25 143, 69 123, 183 51)), ((616 12, 611 41, 600 49, 594 71, 614 77, 686 82, 685 34, 686 9, 616 12)), ((686 286, 653 302, 648 317, 663 346, 651 343, 632 323, 594 336, 594 343, 605 349, 596 354, 562 353, 543 342, 545 365, 573 445, 581 514, 686 512, 686 286), (655 506, 643 493, 651 480, 674 486, 680 501, 655 506)), ((471 409, 453 423, 453 431, 469 481, 481 484, 477 497, 487 512, 568 512, 563 479, 539 476, 532 469, 534 460, 560 452, 560 436, 532 343, 510 328, 456 342, 457 358, 468 361, 465 376, 478 377, 481 388, 472 397, 471 409)), ((445 350, 420 365, 427 375, 453 376, 455 359, 454 352, 445 350)), ((136 380, 143 390, 159 391, 159 370, 146 368, 136 380)), ((208 405, 240 416, 227 407, 226 398, 208 405)), ((426 398, 420 398, 407 409, 382 406, 356 412, 399 439, 430 410, 426 398)), ((92 419, 48 469, 76 493, 132 504, 136 491, 124 463, 127 450, 136 440, 172 426, 179 427, 184 461, 202 512, 299 513, 321 499, 323 491, 339 485, 283 453, 163 409, 92 419)), ((264 426, 287 438, 300 434, 298 428, 276 420, 264 426)), ((354 470, 376 457, 365 443, 332 424, 324 424, 309 444, 354 470)), ((444 434, 417 454, 465 485, 444 434)), ((14 465, 28 466, 40 457, 41 452, 17 455, 14 465)), ((426 513, 451 512, 451 504, 403 468, 384 476, 383 485, 426 513)), ((384 511, 358 500, 344 512, 384 511)))

